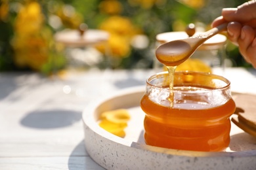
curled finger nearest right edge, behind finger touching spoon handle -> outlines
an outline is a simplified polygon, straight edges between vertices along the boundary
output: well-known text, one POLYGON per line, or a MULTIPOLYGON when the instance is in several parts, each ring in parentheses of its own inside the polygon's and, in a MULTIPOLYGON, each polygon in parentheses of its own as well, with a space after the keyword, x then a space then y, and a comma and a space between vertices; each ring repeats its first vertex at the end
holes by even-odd
POLYGON ((249 48, 253 44, 253 40, 255 38, 254 29, 245 25, 242 27, 240 38, 238 38, 238 45, 240 49, 240 53, 244 56, 245 60, 249 63, 252 63, 251 59, 253 59, 251 52, 251 48, 249 48), (250 52, 249 52, 250 51, 250 52))

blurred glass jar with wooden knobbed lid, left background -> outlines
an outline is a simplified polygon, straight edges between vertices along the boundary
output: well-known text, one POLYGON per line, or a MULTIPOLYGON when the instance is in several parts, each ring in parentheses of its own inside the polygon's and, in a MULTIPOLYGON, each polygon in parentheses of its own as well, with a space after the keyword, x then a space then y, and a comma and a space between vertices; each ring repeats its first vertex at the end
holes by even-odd
POLYGON ((81 24, 79 29, 58 31, 54 35, 56 43, 62 44, 66 48, 69 71, 108 67, 110 57, 108 39, 107 31, 88 29, 86 24, 81 24), (97 50, 96 46, 104 48, 104 52, 97 50))

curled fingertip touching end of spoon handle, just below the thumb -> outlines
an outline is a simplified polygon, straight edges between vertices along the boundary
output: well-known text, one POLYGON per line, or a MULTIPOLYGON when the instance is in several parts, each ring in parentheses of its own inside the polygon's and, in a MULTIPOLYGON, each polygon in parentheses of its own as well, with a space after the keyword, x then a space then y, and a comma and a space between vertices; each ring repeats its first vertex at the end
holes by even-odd
POLYGON ((230 22, 227 26, 228 39, 233 44, 238 45, 238 38, 240 37, 242 25, 238 22, 230 22))

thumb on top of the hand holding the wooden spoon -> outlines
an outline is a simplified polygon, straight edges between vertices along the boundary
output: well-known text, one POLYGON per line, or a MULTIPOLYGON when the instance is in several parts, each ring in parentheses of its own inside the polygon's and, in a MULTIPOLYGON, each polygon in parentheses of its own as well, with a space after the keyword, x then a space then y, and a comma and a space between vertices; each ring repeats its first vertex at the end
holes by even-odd
POLYGON ((234 9, 223 9, 222 15, 228 22, 249 22, 256 18, 256 1, 249 1, 234 9))

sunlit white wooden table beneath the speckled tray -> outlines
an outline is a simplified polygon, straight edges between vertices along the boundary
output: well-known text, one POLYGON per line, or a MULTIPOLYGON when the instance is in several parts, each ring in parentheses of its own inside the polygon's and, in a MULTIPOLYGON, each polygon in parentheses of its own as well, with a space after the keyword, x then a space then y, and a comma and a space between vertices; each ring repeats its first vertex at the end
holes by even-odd
MULTIPOLYGON (((256 71, 219 70, 233 91, 256 94, 256 71)), ((0 169, 103 169, 85 150, 81 112, 99 97, 144 85, 153 71, 0 73, 0 169)), ((256 103, 256 101, 255 101, 256 103)))

